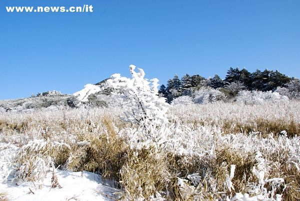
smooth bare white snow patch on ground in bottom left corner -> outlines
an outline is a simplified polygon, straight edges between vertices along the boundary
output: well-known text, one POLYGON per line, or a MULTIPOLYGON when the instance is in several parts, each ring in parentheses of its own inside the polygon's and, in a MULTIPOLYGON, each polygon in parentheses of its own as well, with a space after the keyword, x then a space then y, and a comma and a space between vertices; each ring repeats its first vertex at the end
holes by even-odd
POLYGON ((5 192, 9 201, 110 201, 117 198, 118 190, 112 188, 113 182, 103 180, 101 176, 90 172, 71 172, 55 170, 59 185, 51 188, 52 171, 50 169, 43 182, 24 182, 8 177, 3 179, 7 152, 14 152, 13 145, 0 147, 0 192, 5 192), (3 149, 4 148, 4 149, 3 149))

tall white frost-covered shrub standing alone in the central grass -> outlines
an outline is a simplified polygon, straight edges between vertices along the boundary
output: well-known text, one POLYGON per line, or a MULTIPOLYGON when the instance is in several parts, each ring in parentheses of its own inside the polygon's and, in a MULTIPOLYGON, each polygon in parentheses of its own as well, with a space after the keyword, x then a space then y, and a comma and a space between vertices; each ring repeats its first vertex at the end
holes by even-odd
POLYGON ((138 68, 137 73, 134 65, 129 68, 131 79, 113 74, 105 86, 116 89, 115 95, 123 99, 126 110, 122 119, 138 123, 144 128, 167 123, 168 104, 165 103, 165 98, 158 96, 158 79, 153 78, 149 82, 144 79, 145 73, 142 69, 138 68))

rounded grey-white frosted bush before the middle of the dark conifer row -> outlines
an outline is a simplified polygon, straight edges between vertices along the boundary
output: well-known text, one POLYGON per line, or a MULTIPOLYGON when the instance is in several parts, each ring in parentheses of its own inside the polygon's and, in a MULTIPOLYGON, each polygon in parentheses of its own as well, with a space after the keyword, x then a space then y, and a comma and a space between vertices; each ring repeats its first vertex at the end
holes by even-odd
POLYGON ((210 87, 202 87, 199 90, 194 91, 192 96, 194 102, 198 104, 212 103, 225 98, 225 95, 222 92, 210 87))

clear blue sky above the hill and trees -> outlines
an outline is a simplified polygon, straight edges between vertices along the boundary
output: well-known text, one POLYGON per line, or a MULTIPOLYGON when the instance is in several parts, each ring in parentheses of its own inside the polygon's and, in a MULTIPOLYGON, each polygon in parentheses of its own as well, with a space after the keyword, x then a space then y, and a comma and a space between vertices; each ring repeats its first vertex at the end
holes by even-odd
POLYGON ((229 67, 300 77, 299 0, 1 0, 0 99, 73 93, 128 66, 165 84, 229 67), (7 13, 78 6, 92 13, 7 13))

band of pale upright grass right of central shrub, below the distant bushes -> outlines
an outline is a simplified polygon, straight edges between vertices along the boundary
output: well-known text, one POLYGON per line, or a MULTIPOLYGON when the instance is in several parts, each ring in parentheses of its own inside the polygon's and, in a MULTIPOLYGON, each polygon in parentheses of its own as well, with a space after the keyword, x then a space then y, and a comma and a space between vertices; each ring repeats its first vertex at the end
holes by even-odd
POLYGON ((285 130, 289 137, 300 133, 300 105, 297 101, 243 105, 237 103, 211 103, 183 107, 177 105, 169 110, 171 121, 198 126, 216 125, 224 134, 251 132, 279 134, 285 130))

